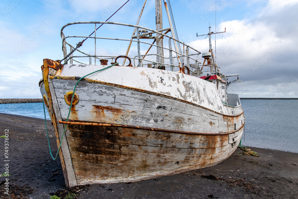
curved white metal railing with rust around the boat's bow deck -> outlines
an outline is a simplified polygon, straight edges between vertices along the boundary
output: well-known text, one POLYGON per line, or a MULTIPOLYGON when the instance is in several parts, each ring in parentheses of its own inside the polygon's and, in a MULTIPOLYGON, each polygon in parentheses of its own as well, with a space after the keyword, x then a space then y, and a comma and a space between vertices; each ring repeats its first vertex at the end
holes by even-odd
MULTIPOLYGON (((69 57, 67 57, 65 60, 64 60, 64 64, 67 64, 68 61, 70 61, 70 64, 73 64, 73 61, 76 61, 80 64, 84 64, 83 62, 80 61, 77 61, 75 60, 74 58, 85 58, 86 57, 89 57, 89 64, 92 64, 92 60, 91 58, 94 58, 94 64, 96 64, 96 60, 101 60, 101 59, 111 59, 111 62, 113 62, 114 58, 116 58, 117 56, 111 56, 111 55, 97 55, 96 54, 96 40, 115 40, 115 41, 129 41, 129 42, 136 42, 137 44, 137 55, 133 56, 133 57, 129 57, 131 60, 133 60, 134 62, 134 67, 144 67, 144 66, 147 66, 149 67, 149 65, 151 64, 151 66, 164 66, 164 67, 170 67, 170 70, 171 71, 175 71, 175 67, 176 68, 180 68, 183 67, 183 66, 187 66, 189 69, 190 69, 190 75, 194 75, 194 76, 198 76, 201 74, 201 71, 199 70, 199 64, 201 64, 201 62, 198 61, 198 55, 201 54, 201 52, 199 52, 198 50, 196 50, 195 48, 193 47, 190 47, 189 45, 187 44, 184 44, 183 42, 173 38, 172 36, 169 36, 167 34, 164 34, 162 33, 162 31, 164 30, 168 30, 169 31, 169 28, 164 28, 162 30, 153 30, 153 29, 149 29, 149 28, 146 28, 146 27, 141 27, 141 26, 137 26, 137 25, 131 25, 131 24, 123 24, 123 23, 117 23, 117 22, 110 22, 110 21, 80 21, 80 22, 73 22, 73 23, 69 23, 69 24, 66 24, 62 27, 61 29, 61 38, 62 38, 62 50, 63 50, 63 56, 64 58, 68 55, 67 54, 67 46, 70 47, 70 52, 75 49, 75 51, 69 55, 69 57), (64 33, 63 33, 63 30, 65 27, 67 26, 70 26, 70 25, 75 25, 75 24, 94 24, 95 25, 95 31, 94 31, 94 37, 92 36, 64 36, 64 33), (132 27, 132 28, 136 28, 136 36, 133 36, 131 39, 124 39, 124 38, 108 38, 108 37, 97 37, 96 36, 96 24, 114 24, 114 25, 119 25, 119 26, 126 26, 126 27, 132 27), (149 32, 146 32, 146 33, 143 33, 143 34, 140 34, 140 30, 142 29, 142 32, 145 32, 146 31, 149 31, 149 32), (156 53, 150 53, 150 54, 147 54, 150 50, 150 48, 152 46, 154 47, 160 47, 156 44, 153 43, 148 43, 148 42, 145 42, 145 41, 141 41, 141 39, 156 39, 155 36, 152 36, 152 34, 160 34, 163 36, 163 39, 164 38, 168 38, 169 39, 169 45, 168 47, 161 47, 163 50, 167 50, 166 52, 168 52, 168 56, 162 56, 162 55, 158 55, 156 53), (148 35, 150 37, 148 37, 148 35), (147 37, 146 37, 147 36, 147 37), (75 47, 74 45, 70 44, 69 42, 66 41, 66 39, 70 39, 70 38, 82 38, 83 41, 85 41, 87 38, 92 38, 94 39, 94 54, 91 55, 91 54, 88 54, 88 53, 85 53, 79 49, 77 49, 78 47, 75 47), (186 47, 186 52, 183 54, 179 53, 179 52, 176 52, 175 50, 172 49, 172 42, 175 44, 175 42, 179 42, 180 44, 184 45, 184 47, 186 47), (140 48, 140 44, 142 44, 142 48, 144 49, 141 49, 140 48), (145 46, 145 47, 144 47, 145 46), (146 54, 143 54, 141 55, 141 50, 147 50, 147 53, 146 54), (192 50, 194 51, 193 54, 189 54, 189 50, 192 50), (79 55, 74 55, 74 53, 79 53, 79 55), (173 56, 173 53, 176 53, 176 56, 173 56), (147 57, 145 59, 145 57, 147 57), (153 58, 152 58, 153 57, 153 58), (164 63, 158 63, 157 61, 153 61, 153 60, 156 60, 156 57, 163 57, 164 58, 164 63), (186 63, 181 65, 180 63, 180 59, 179 57, 183 60, 186 59, 186 63), (177 58, 176 60, 176 63, 175 64, 175 58, 177 58)), ((167 31, 167 32, 168 32, 167 31)), ((119 35, 121 35, 119 33, 119 35)), ((98 44, 99 42, 97 42, 98 44)), ((115 45, 114 45, 115 46, 115 45)), ((90 51, 90 50, 89 50, 90 51)), ((119 54, 119 55, 123 55, 123 54, 119 54)))

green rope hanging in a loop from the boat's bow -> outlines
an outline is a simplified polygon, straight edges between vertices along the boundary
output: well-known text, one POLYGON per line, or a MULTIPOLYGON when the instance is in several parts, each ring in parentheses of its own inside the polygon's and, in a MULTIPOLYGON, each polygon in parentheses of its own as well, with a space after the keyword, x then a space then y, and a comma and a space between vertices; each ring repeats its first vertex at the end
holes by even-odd
MULTIPOLYGON (((95 73, 95 72, 99 72, 99 71, 102 71, 102 70, 111 68, 112 66, 117 65, 117 64, 118 64, 118 63, 115 63, 115 64, 113 64, 113 65, 111 65, 111 66, 108 66, 108 67, 105 67, 105 68, 103 68, 103 69, 100 69, 100 70, 91 72, 91 73, 89 73, 88 75, 92 75, 92 74, 95 73)), ((73 101, 74 96, 75 96, 75 90, 76 90, 77 84, 79 83, 79 81, 81 81, 83 78, 87 77, 88 75, 85 75, 85 76, 81 77, 81 78, 77 81, 77 83, 75 84, 75 88, 74 88, 74 91, 73 91, 73 93, 72 93, 72 101, 73 101)), ((71 101, 70 106, 69 106, 69 112, 68 112, 67 119, 66 119, 67 122, 68 122, 68 118, 69 118, 69 115, 70 115, 70 112, 71 112, 71 108, 72 108, 72 101, 71 101)), ((43 101, 43 105, 44 105, 44 101, 43 101)), ((45 109, 44 109, 44 122, 45 122, 45 124, 46 124, 46 111, 45 111, 45 109)), ((52 155, 52 150, 51 150, 50 141, 49 141, 49 135, 48 135, 48 129, 47 129, 47 127, 46 127, 46 136, 47 136, 47 138, 48 138, 48 144, 49 144, 50 154, 51 154, 53 160, 56 160, 57 157, 58 157, 58 154, 59 154, 59 151, 60 151, 60 148, 61 148, 61 143, 62 143, 64 134, 65 134, 66 126, 67 126, 67 124, 65 124, 65 126, 64 126, 63 134, 62 134, 62 136, 61 136, 60 145, 59 145, 59 148, 58 148, 58 151, 57 151, 57 154, 56 154, 56 157, 55 157, 55 158, 54 158, 53 155, 52 155)))

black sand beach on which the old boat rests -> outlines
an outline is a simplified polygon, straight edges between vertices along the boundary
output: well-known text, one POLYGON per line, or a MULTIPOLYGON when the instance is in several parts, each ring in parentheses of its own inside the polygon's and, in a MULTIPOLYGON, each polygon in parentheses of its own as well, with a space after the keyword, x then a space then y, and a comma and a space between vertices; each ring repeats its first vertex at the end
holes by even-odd
MULTIPOLYGON (((49 155, 44 120, 0 113, 0 135, 9 129, 8 158, 0 138, 0 198, 50 198, 75 193, 76 198, 298 198, 298 153, 249 147, 260 157, 236 152, 223 163, 179 175, 135 183, 65 187, 59 157, 49 155), (4 194, 9 178, 9 195, 4 194)), ((47 121, 53 154, 55 133, 47 121)), ((75 197, 74 197, 75 198, 75 197)))

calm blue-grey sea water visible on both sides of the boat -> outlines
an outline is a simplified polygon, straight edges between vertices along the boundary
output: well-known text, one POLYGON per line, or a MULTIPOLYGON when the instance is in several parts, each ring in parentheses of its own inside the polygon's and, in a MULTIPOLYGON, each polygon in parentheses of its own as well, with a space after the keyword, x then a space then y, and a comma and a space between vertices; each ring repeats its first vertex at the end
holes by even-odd
MULTIPOLYGON (((298 100, 241 100, 241 104, 245 115, 244 146, 298 153, 298 100)), ((0 104, 0 112, 44 118, 42 103, 0 104)))

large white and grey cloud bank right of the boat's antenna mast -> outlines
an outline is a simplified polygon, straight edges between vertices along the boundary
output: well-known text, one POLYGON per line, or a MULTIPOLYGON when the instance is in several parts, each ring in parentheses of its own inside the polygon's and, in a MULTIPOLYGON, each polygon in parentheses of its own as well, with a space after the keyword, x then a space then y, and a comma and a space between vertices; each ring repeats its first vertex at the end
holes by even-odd
MULTIPOLYGON (((223 74, 240 73, 243 82, 234 84, 242 97, 272 97, 276 93, 298 96, 295 90, 298 82, 293 76, 298 74, 295 64, 298 39, 294 36, 298 32, 298 16, 291 14, 298 9, 298 4, 297 1, 278 2, 267 6, 257 18, 223 21, 217 28, 219 31, 226 28, 222 39, 221 34, 217 35, 217 63, 223 74), (291 20, 286 20, 288 16, 291 20)), ((207 39, 199 39, 191 45, 199 49, 207 43, 207 39)), ((215 53, 214 41, 212 48, 215 53)))

